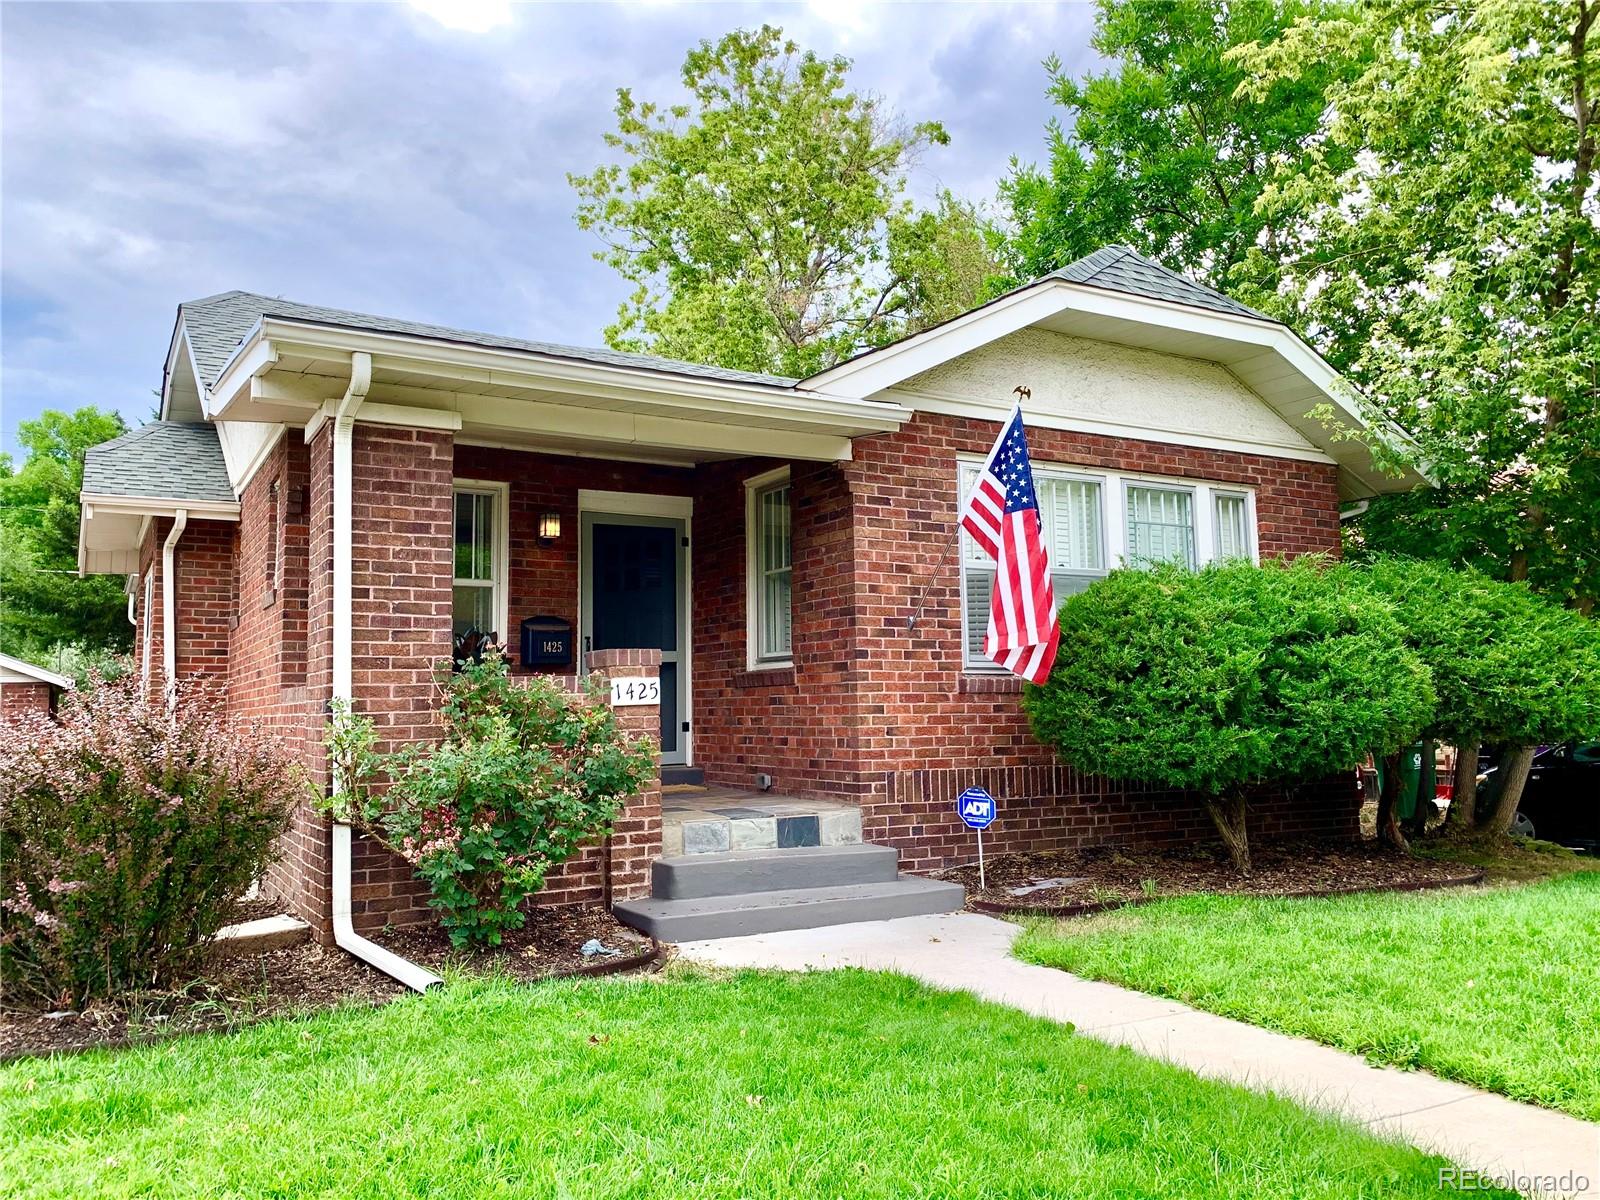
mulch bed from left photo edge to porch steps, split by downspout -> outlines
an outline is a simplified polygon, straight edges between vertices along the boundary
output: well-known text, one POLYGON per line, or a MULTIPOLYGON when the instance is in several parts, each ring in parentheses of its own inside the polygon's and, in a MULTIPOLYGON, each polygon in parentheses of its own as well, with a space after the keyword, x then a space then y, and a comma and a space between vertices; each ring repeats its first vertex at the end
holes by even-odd
MULTIPOLYGON (((277 912, 277 906, 266 901, 250 901, 240 906, 235 920, 277 912)), ((642 970, 661 957, 659 946, 605 909, 541 909, 504 946, 486 952, 456 950, 437 928, 379 934, 376 941, 435 971, 502 973, 528 982, 642 970), (590 939, 618 954, 584 955, 582 947, 590 939)), ((182 987, 96 1002, 82 1011, 0 1011, 0 1061, 226 1032, 338 1005, 382 1005, 406 994, 406 987, 382 971, 317 942, 261 954, 216 954, 202 978, 182 987)))

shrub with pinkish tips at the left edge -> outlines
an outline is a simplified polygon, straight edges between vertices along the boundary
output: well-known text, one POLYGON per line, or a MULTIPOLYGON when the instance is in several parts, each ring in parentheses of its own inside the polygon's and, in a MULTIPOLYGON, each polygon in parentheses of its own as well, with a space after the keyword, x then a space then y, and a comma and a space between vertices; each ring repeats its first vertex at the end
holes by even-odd
POLYGON ((304 798, 270 741, 214 693, 174 712, 136 680, 94 680, 58 714, 0 730, 0 982, 80 1005, 192 970, 261 877, 304 798))

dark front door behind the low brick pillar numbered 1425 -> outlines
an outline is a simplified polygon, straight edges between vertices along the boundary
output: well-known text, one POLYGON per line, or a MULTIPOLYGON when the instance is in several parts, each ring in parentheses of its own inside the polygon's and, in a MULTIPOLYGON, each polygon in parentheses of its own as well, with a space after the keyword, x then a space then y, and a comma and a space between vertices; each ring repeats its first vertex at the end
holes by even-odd
POLYGON ((688 762, 686 541, 682 517, 584 512, 582 648, 661 651, 661 762, 688 762))

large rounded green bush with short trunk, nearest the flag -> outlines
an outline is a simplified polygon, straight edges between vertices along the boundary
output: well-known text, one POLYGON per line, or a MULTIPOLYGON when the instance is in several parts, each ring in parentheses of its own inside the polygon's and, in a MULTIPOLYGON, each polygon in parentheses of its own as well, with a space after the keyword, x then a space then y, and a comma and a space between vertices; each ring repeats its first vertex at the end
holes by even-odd
POLYGON ((1434 690, 1389 602, 1301 558, 1112 571, 1061 608, 1056 667, 1022 704, 1082 771, 1200 792, 1248 872, 1254 789, 1395 750, 1434 690))

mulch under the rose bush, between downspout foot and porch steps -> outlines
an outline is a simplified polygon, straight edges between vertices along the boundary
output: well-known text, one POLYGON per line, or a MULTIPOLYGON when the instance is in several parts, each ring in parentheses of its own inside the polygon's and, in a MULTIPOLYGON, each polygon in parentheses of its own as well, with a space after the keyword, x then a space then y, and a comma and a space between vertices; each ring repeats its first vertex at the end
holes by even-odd
POLYGON ((493 950, 458 950, 437 925, 394 930, 374 934, 373 941, 430 971, 454 968, 469 974, 509 974, 522 982, 562 974, 613 974, 659 957, 656 942, 602 907, 534 909, 528 923, 507 933, 493 950), (584 957, 582 947, 589 941, 618 954, 584 957))

